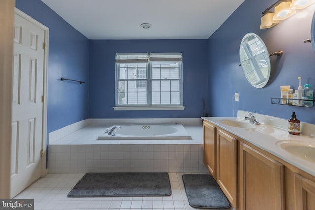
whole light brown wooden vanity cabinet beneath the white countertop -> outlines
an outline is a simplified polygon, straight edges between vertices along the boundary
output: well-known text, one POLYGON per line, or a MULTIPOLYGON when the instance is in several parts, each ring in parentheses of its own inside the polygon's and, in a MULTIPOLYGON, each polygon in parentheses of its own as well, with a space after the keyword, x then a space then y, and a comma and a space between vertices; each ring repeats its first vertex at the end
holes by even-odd
POLYGON ((315 177, 203 121, 204 164, 236 210, 315 210, 315 177))

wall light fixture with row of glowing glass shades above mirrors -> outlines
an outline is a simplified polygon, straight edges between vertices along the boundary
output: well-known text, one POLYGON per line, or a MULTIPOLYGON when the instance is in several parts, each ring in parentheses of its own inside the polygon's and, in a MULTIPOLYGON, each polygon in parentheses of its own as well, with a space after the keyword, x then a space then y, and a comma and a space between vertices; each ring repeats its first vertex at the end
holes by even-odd
POLYGON ((262 12, 260 29, 271 28, 295 14, 296 9, 303 9, 315 3, 315 0, 278 0, 262 12), (274 8, 274 12, 270 10, 274 8))

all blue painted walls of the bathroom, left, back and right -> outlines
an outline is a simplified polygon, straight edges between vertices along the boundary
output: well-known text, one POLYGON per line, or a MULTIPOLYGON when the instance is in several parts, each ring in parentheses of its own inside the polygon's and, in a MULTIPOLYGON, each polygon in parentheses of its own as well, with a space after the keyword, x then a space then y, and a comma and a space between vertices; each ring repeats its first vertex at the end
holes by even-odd
MULTIPOLYGON (((315 5, 270 29, 259 29, 261 12, 274 0, 245 0, 208 40, 88 40, 40 0, 16 0, 16 7, 49 27, 48 132, 87 118, 200 117, 202 100, 210 116, 233 116, 249 110, 282 118, 297 113, 315 124, 315 108, 272 105, 280 85, 310 83, 315 89, 315 53, 310 38, 315 5), (248 32, 258 34, 271 57, 268 85, 256 89, 239 66, 239 46, 248 32), (183 52, 184 111, 114 111, 115 53, 183 52), (83 80, 78 84, 60 78, 83 80), (240 102, 233 102, 235 92, 240 102)), ((211 20, 209 20, 211 21, 211 20)))

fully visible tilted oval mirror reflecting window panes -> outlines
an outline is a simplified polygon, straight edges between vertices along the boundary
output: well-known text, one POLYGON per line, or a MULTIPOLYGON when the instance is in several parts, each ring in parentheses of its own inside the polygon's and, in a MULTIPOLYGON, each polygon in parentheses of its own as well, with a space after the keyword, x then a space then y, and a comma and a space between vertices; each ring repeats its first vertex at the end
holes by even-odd
POLYGON ((246 79, 256 88, 264 87, 270 77, 270 59, 265 43, 247 33, 240 46, 240 61, 246 79))

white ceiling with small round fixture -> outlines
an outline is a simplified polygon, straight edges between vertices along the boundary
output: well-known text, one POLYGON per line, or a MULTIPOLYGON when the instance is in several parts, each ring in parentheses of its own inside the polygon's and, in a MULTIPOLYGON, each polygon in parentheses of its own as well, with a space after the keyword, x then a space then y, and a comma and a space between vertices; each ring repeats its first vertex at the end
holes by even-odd
POLYGON ((207 39, 244 0, 41 1, 88 39, 207 39))

